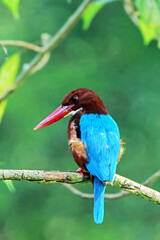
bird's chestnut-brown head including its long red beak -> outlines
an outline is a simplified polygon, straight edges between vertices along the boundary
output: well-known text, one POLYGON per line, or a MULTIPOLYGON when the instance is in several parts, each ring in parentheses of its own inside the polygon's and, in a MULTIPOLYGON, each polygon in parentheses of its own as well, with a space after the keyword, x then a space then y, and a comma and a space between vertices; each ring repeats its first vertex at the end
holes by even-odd
POLYGON ((54 123, 66 115, 94 113, 107 115, 107 109, 100 97, 88 88, 78 88, 69 92, 62 100, 61 106, 41 121, 34 130, 54 123))

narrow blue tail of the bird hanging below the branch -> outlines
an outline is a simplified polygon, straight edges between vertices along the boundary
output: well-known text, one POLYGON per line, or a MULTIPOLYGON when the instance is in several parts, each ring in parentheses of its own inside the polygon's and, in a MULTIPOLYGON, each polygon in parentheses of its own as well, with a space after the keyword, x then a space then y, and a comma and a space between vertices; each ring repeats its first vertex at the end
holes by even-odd
POLYGON ((94 177, 93 180, 94 185, 94 209, 93 209, 93 215, 94 215, 94 221, 97 224, 100 224, 103 222, 104 217, 104 193, 105 188, 101 181, 94 177))

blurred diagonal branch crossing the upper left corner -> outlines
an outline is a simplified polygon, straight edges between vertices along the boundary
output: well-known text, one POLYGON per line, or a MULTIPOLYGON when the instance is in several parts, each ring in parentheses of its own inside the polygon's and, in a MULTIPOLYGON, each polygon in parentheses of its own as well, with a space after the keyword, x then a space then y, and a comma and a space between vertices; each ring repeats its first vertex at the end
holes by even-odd
MULTIPOLYGON (((93 0, 84 0, 82 4, 77 8, 77 10, 69 17, 67 22, 62 26, 62 28, 57 32, 57 34, 51 38, 49 43, 42 48, 42 52, 37 54, 37 56, 28 64, 28 67, 23 69, 22 72, 17 77, 15 83, 7 88, 0 94, 0 102, 11 95, 19 85, 28 77, 29 74, 33 72, 35 67, 44 59, 44 56, 51 52, 56 46, 61 42, 61 40, 70 32, 73 26, 78 22, 82 13, 85 11, 87 6, 93 0)), ((44 65, 43 65, 44 66, 44 65)))

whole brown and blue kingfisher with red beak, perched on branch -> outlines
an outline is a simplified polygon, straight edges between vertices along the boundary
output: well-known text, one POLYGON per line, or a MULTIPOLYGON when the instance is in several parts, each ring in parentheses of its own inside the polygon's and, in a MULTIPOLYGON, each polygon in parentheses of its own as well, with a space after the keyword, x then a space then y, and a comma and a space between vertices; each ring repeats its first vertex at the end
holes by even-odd
POLYGON ((124 153, 119 128, 101 98, 91 89, 78 88, 65 95, 60 107, 34 130, 46 127, 65 116, 70 149, 78 171, 88 171, 93 182, 93 216, 96 224, 104 219, 104 194, 107 182, 113 184, 117 163, 124 153))

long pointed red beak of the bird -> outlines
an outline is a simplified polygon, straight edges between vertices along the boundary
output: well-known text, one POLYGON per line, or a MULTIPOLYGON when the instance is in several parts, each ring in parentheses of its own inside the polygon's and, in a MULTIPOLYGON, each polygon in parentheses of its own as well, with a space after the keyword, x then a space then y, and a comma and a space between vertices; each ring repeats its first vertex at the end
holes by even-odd
POLYGON ((60 120, 61 118, 63 118, 64 116, 66 116, 68 113, 72 112, 72 105, 70 106, 60 106, 58 107, 54 112, 52 112, 48 117, 46 117, 43 121, 41 121, 35 128, 34 130, 37 130, 39 128, 43 128, 46 127, 58 120, 60 120))

